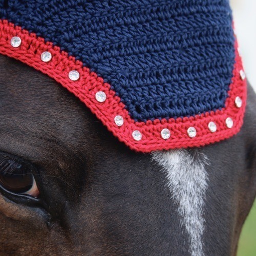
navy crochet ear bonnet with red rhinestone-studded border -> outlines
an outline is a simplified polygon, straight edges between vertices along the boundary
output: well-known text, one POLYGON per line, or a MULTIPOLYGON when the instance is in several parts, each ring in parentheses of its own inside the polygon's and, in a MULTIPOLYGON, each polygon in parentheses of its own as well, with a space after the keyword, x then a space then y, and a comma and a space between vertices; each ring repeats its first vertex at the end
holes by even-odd
POLYGON ((0 0, 0 53, 67 88, 139 152, 240 131, 246 80, 227 0, 0 0))

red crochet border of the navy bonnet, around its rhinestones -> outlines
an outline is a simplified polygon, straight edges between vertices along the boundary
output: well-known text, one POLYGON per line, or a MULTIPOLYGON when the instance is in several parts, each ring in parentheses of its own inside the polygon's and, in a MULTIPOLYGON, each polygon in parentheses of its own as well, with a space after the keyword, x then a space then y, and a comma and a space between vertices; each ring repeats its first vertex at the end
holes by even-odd
POLYGON ((223 139, 227 139, 240 131, 243 124, 246 102, 246 80, 240 77, 240 70, 243 69, 242 61, 237 50, 236 42, 236 62, 233 69, 232 83, 230 84, 229 97, 225 102, 225 108, 216 112, 207 112, 194 117, 156 119, 144 122, 135 122, 124 104, 115 92, 110 89, 110 84, 103 81, 96 73, 90 72, 83 67, 82 62, 75 60, 75 57, 69 56, 67 52, 61 51, 59 47, 53 46, 52 42, 45 42, 41 37, 34 33, 29 33, 18 26, 14 26, 7 20, 0 20, 0 53, 18 59, 27 65, 35 68, 54 78, 62 84, 82 102, 102 121, 106 127, 127 146, 138 152, 152 152, 156 150, 169 150, 170 148, 204 146, 223 139), (18 48, 10 45, 13 36, 19 36, 22 44, 18 48), (43 62, 40 59, 42 52, 49 51, 52 59, 49 62, 43 62), (80 78, 77 81, 69 79, 69 72, 77 70, 80 78), (103 91, 106 94, 104 102, 98 102, 95 94, 103 91), (237 96, 243 100, 241 108, 237 108, 234 101, 237 96), (122 126, 117 126, 114 117, 121 115, 124 119, 122 126), (233 127, 229 129, 225 120, 227 117, 233 119, 233 127), (214 121, 217 124, 217 132, 211 133, 208 129, 208 123, 214 121), (197 136, 190 138, 187 135, 187 129, 194 126, 197 130, 197 136), (169 139, 162 139, 160 132, 162 129, 170 130, 169 139), (140 141, 134 140, 133 131, 138 130, 142 134, 140 141))

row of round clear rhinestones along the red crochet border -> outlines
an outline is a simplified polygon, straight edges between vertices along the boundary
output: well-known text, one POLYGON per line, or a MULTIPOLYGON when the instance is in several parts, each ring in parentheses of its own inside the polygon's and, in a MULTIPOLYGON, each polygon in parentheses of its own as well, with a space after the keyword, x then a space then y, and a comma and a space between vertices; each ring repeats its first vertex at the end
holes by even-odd
MULTIPOLYGON (((22 40, 18 37, 18 36, 14 36, 11 38, 11 46, 12 47, 19 47, 20 45, 22 44, 22 40)), ((43 52, 41 54, 41 60, 44 61, 44 62, 49 62, 50 60, 52 59, 52 54, 50 52, 43 52)), ((78 71, 76 70, 72 70, 69 72, 69 78, 72 80, 72 81, 77 81, 80 77, 80 74, 78 71)), ((242 80, 245 79, 245 73, 243 70, 240 70, 240 77, 242 80)), ((95 94, 95 98, 98 102, 104 102, 106 100, 106 94, 102 91, 99 91, 95 94)), ((242 99, 237 96, 234 103, 236 104, 237 108, 241 108, 242 106, 242 99)), ((122 116, 116 116, 114 118, 114 121, 116 123, 117 126, 122 126, 123 123, 124 123, 124 120, 123 120, 123 117, 122 116)), ((226 118, 225 120, 225 123, 226 123, 226 126, 231 129, 233 127, 233 120, 231 117, 228 117, 226 118)), ((211 121, 208 123, 208 129, 211 133, 215 133, 217 131, 217 125, 215 122, 211 121)), ((169 139, 170 138, 170 131, 169 129, 167 128, 164 128, 162 131, 161 131, 161 137, 165 140, 169 139)), ((187 129, 187 135, 188 137, 190 138, 195 138, 196 135, 197 135, 197 130, 195 127, 191 126, 187 129)), ((132 136, 133 138, 136 140, 136 141, 140 141, 142 139, 142 134, 140 131, 134 131, 132 133, 132 136)))

